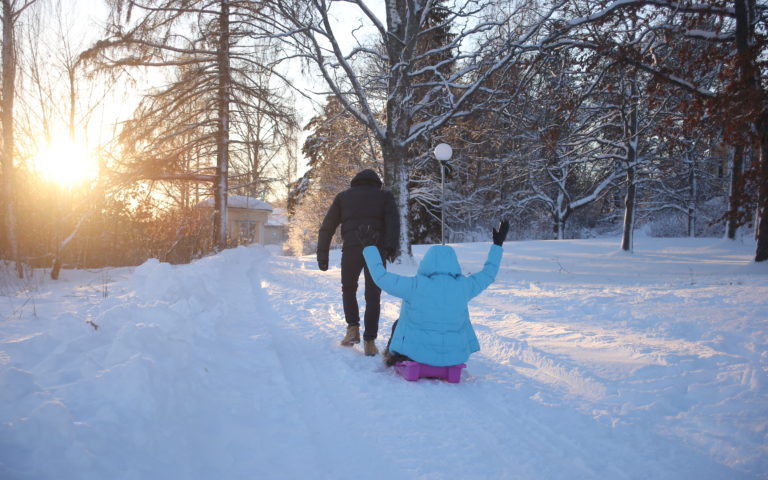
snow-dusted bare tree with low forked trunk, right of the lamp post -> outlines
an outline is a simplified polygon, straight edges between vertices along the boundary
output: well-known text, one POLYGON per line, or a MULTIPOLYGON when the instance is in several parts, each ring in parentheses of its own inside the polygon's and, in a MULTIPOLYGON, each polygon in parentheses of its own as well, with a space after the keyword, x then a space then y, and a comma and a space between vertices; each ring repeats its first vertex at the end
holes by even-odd
POLYGON ((569 51, 543 54, 536 68, 519 114, 527 185, 514 198, 548 212, 554 238, 563 239, 570 216, 615 187, 626 168, 624 144, 611 102, 596 96, 601 68, 581 69, 569 51))

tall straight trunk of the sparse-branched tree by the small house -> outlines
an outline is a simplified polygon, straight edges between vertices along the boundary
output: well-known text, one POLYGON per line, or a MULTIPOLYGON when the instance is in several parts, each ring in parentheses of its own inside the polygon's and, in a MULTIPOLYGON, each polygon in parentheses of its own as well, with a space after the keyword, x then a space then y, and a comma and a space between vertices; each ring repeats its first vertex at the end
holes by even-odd
POLYGON ((232 74, 229 68, 229 0, 221 0, 219 12, 219 46, 217 66, 218 125, 216 131, 216 181, 214 182, 213 244, 217 250, 227 248, 227 189, 229 178, 229 104, 232 74))

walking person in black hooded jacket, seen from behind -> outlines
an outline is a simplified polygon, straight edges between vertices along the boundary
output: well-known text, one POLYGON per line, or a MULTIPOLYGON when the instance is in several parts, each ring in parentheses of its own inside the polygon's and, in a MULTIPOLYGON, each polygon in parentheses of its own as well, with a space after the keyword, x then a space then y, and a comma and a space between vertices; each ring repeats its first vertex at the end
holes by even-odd
POLYGON ((360 343, 360 309, 357 303, 357 287, 360 272, 365 275, 365 315, 363 325, 363 350, 366 355, 378 353, 376 337, 379 331, 381 289, 371 278, 363 258, 363 244, 358 228, 369 227, 377 234, 379 254, 390 262, 396 258, 400 219, 392 192, 382 190, 382 182, 373 170, 359 172, 347 190, 336 195, 328 209, 317 239, 317 266, 328 270, 328 250, 336 228, 341 225, 341 295, 347 332, 341 345, 360 343))

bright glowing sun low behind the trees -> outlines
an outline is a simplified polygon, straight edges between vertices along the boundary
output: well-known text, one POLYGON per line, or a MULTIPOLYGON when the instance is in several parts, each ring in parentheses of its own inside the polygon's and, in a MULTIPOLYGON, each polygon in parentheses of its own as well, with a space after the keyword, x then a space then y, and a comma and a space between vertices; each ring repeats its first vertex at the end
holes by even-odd
POLYGON ((82 142, 57 138, 32 158, 35 171, 65 188, 81 186, 96 179, 99 164, 82 142))

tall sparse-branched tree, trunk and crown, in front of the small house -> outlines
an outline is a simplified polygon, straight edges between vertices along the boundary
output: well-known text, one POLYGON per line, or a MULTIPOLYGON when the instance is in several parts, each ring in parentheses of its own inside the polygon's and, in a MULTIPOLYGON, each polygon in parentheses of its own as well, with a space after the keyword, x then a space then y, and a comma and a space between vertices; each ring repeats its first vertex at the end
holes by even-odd
POLYGON ((154 169, 151 178, 212 182, 219 249, 227 244, 232 156, 237 151, 253 155, 257 144, 250 127, 240 128, 246 137, 238 137, 235 126, 253 125, 248 117, 255 111, 287 130, 295 124, 292 108, 275 93, 275 85, 254 82, 259 72, 272 68, 256 55, 260 8, 258 2, 231 0, 117 1, 108 38, 88 54, 113 69, 175 69, 176 78, 145 99, 123 137, 134 158, 154 169), (179 141, 188 135, 194 141, 179 141), (153 153, 158 150, 161 155, 153 153), (203 168, 215 159, 215 172, 173 171, 184 155, 201 155, 203 168))

